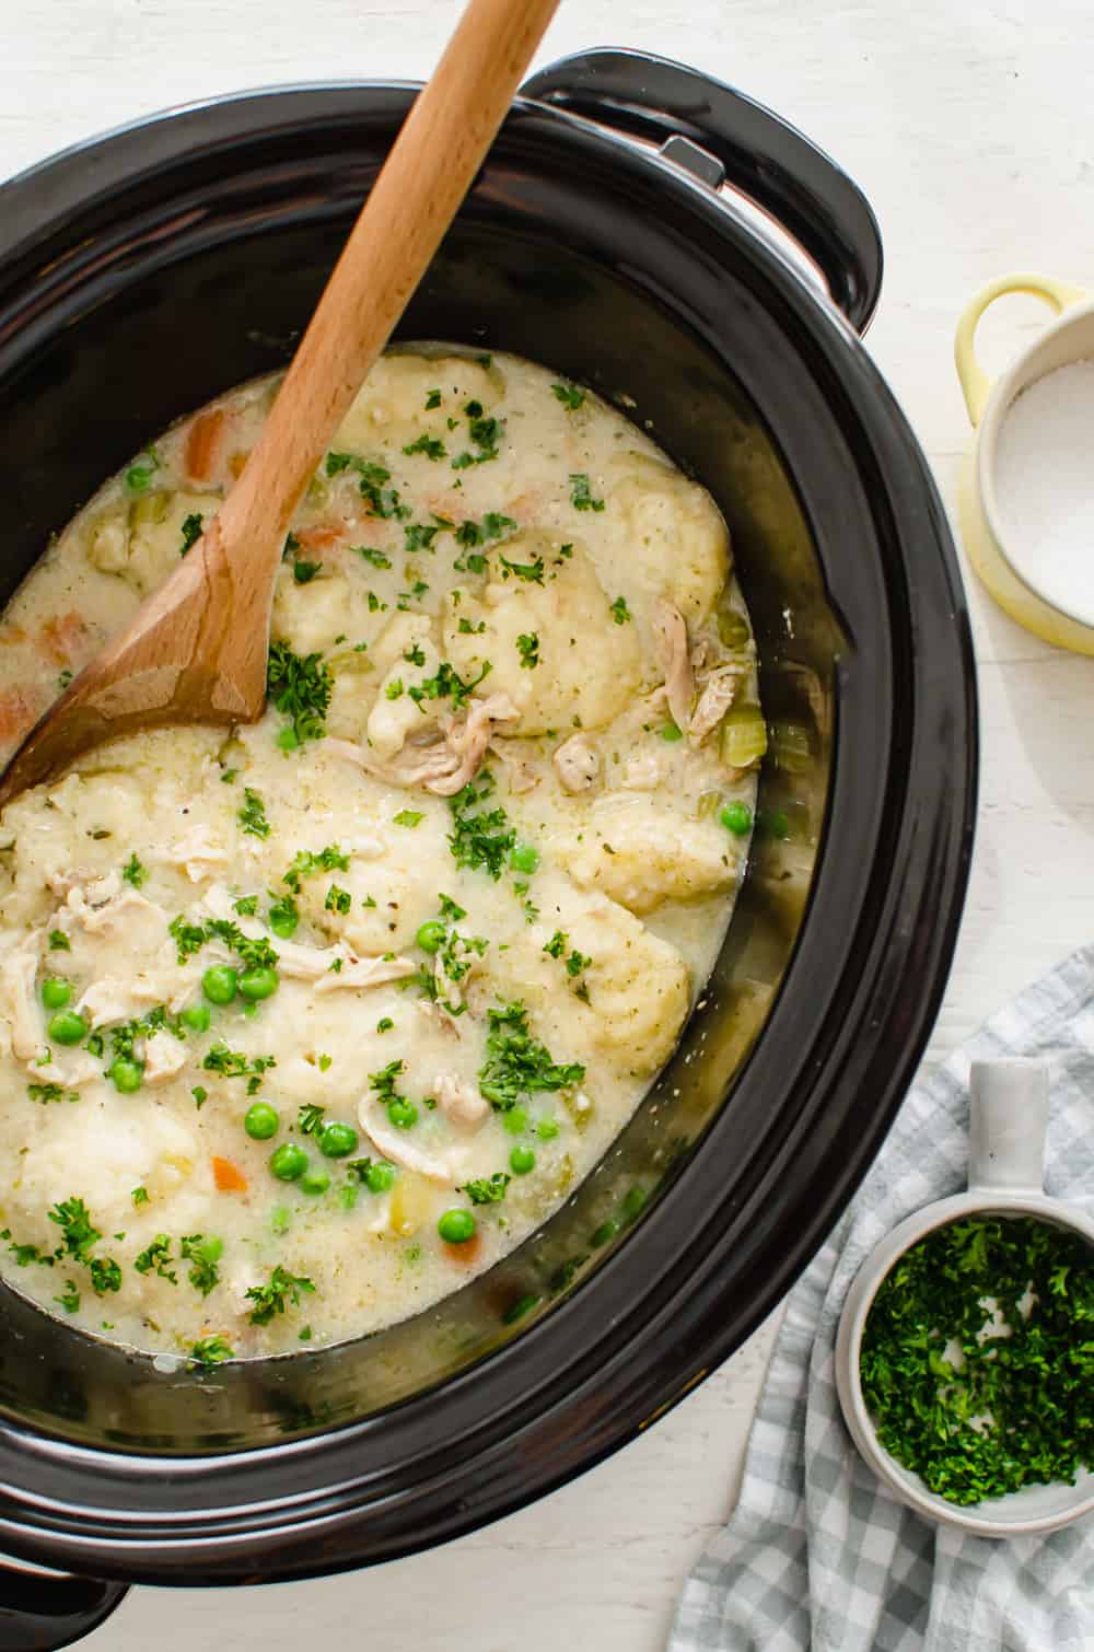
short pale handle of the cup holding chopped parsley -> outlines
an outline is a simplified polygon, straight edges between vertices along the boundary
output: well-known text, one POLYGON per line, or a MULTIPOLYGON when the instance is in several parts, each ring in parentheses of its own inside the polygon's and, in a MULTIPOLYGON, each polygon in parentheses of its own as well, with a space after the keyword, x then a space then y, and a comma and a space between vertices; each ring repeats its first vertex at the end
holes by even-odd
POLYGON ((1048 1064, 973 1061, 968 1191, 1043 1193, 1048 1064))

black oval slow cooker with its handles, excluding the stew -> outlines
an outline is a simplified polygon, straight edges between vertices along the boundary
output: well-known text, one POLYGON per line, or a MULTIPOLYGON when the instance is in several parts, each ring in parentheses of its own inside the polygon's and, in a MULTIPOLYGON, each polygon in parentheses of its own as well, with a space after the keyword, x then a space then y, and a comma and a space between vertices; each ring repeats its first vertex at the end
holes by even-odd
MULTIPOLYGON (((288 358, 413 94, 182 109, 0 192, 0 598, 152 431, 288 358)), ((400 334, 631 398, 721 504, 775 725, 729 940, 606 1161, 435 1312, 193 1376, 0 1290, 0 1548, 76 1574, 13 1568, 0 1649, 126 1581, 302 1578, 517 1508, 686 1394, 830 1231, 927 1039, 975 796, 945 515, 858 337, 879 274, 854 185, 724 86, 621 51, 529 84, 400 334)))

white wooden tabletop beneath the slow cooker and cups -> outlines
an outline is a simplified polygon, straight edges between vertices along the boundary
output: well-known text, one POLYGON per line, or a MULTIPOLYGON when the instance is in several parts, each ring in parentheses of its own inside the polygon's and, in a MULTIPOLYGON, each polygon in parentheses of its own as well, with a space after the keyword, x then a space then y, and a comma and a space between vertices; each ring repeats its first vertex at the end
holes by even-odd
MULTIPOLYGON (((0 0, 0 177, 165 104, 347 74, 421 78, 456 0, 0 0)), ((633 45, 770 102, 864 187, 887 276, 869 349, 952 501, 965 416, 954 319, 988 276, 1094 286, 1086 0, 570 0, 540 61, 633 45)), ((3 225, 0 221, 0 236, 3 225)), ((988 358, 1043 319, 1011 299, 988 358)), ((932 1056, 1094 935, 1094 662, 978 588, 980 838, 932 1056)), ((641 1441, 488 1531, 383 1569, 276 1589, 134 1591, 96 1652, 653 1652, 732 1507, 772 1328, 641 1441)))

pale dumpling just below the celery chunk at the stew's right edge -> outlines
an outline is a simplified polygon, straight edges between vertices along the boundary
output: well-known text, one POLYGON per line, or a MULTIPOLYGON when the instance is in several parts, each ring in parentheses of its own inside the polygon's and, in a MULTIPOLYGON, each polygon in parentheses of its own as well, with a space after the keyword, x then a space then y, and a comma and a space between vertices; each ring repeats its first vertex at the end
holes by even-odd
POLYGON ((554 841, 580 889, 602 889, 630 912, 699 900, 737 882, 737 856, 716 821, 686 819, 648 798, 605 800, 554 841))

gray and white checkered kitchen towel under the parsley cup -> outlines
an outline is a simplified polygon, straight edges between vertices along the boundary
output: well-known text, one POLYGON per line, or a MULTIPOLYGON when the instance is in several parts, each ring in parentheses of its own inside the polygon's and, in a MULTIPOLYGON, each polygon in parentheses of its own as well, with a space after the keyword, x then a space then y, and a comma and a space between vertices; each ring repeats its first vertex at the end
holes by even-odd
POLYGON ((689 1576, 671 1652, 1092 1652, 1094 1515, 1044 1538, 934 1526, 859 1459, 835 1384, 836 1323, 874 1244, 958 1193, 968 1064, 1053 1062, 1048 1191, 1094 1203, 1094 947, 996 1014, 909 1094, 856 1199, 787 1302, 740 1502, 689 1576))

